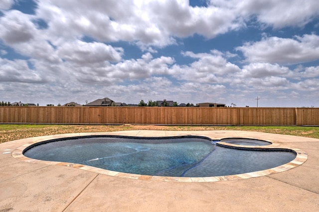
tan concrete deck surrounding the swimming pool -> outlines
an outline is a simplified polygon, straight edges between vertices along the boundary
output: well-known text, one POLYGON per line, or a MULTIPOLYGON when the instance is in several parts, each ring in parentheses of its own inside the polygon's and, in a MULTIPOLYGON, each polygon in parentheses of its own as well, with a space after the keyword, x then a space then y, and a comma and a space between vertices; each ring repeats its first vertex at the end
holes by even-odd
MULTIPOLYGON (((89 134, 96 133, 66 135, 89 134)), ((308 159, 306 156, 306 162, 287 171, 259 177, 177 182, 162 178, 152 180, 148 176, 139 179, 119 177, 119 174, 110 176, 94 168, 86 170, 67 163, 27 161, 18 152, 26 147, 23 145, 43 140, 43 137, 20 139, 0 144, 0 212, 319 211, 319 139, 228 130, 133 130, 100 134, 255 138, 271 141, 278 148, 301 149, 307 152, 308 159)))

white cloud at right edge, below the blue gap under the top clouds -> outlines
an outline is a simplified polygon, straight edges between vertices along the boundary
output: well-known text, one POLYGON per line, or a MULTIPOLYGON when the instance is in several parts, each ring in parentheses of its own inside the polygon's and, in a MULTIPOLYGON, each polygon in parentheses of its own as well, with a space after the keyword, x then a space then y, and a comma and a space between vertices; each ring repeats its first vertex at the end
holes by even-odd
POLYGON ((236 50, 243 52, 248 62, 297 64, 319 59, 319 36, 279 38, 266 37, 261 41, 245 43, 236 50))

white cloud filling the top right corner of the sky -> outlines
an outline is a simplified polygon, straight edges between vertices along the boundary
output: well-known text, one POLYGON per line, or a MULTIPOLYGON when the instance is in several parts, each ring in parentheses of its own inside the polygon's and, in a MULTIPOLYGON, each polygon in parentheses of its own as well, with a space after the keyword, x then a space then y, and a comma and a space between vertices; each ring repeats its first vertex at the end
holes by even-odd
POLYGON ((303 27, 319 14, 317 0, 210 0, 210 4, 227 8, 246 20, 256 16, 259 22, 274 28, 303 27))

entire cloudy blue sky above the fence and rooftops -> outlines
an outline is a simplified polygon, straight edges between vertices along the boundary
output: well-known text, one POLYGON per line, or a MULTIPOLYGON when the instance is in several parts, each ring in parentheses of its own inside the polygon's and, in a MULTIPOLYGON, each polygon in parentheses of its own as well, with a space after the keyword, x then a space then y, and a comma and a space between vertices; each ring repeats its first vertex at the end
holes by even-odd
POLYGON ((0 0, 0 101, 319 107, 318 0, 0 0))

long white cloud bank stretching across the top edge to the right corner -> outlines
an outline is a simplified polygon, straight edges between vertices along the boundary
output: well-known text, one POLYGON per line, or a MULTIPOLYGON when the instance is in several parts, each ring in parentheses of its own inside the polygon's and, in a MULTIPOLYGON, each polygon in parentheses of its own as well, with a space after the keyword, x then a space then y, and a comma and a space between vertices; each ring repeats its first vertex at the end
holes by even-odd
POLYGON ((275 27, 303 25, 318 14, 315 0, 307 5, 301 7, 299 0, 214 0, 208 7, 192 7, 188 0, 55 0, 38 1, 36 14, 47 21, 48 33, 56 42, 86 35, 103 42, 129 41, 147 50, 176 44, 174 37, 197 33, 214 38, 238 30, 252 15, 275 27), (281 15, 286 13, 278 10, 291 13, 285 18, 281 15))

